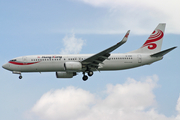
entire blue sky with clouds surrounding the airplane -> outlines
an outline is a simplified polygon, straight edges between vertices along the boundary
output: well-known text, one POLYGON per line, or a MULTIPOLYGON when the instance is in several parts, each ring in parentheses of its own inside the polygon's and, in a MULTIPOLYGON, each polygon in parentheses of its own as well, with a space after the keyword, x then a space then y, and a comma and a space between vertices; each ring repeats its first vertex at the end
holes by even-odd
POLYGON ((55 72, 0 68, 0 119, 180 120, 180 1, 0 0, 0 65, 25 55, 94 54, 128 41, 112 53, 138 49, 166 23, 162 49, 178 46, 151 65, 82 73, 57 79, 55 72))

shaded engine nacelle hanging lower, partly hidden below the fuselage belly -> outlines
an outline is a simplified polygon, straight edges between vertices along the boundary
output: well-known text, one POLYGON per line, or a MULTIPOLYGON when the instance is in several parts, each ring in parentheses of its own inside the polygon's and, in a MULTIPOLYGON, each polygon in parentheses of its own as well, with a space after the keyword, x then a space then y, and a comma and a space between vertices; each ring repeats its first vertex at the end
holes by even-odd
POLYGON ((56 72, 57 78, 72 78, 76 75, 76 72, 56 72))

